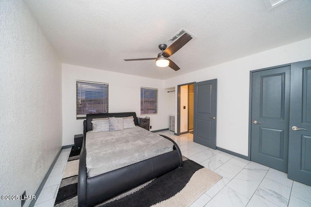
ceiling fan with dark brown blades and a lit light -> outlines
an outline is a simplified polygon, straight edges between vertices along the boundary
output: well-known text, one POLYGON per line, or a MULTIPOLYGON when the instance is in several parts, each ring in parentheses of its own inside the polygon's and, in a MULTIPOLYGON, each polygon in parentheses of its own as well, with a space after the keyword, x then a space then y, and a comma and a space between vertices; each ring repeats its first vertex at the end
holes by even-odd
POLYGON ((186 45, 192 37, 185 33, 181 37, 179 37, 170 47, 166 48, 167 45, 160 44, 159 49, 162 51, 157 54, 157 58, 138 58, 138 59, 126 59, 124 61, 146 61, 146 60, 155 60, 155 64, 158 67, 166 67, 169 66, 173 70, 177 71, 180 68, 168 57, 177 52, 180 48, 186 45))

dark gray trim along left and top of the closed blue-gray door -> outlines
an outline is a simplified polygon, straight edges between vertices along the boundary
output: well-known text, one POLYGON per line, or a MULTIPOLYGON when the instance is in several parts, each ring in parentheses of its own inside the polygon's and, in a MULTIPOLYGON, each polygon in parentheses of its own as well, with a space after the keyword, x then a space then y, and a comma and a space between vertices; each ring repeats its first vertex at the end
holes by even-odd
POLYGON ((249 107, 248 107, 248 160, 251 160, 251 135, 252 135, 252 75, 253 73, 263 71, 263 70, 270 70, 270 69, 275 69, 278 67, 285 67, 285 66, 291 66, 291 64, 281 64, 281 65, 276 65, 272 67, 266 67, 266 68, 261 68, 257 70, 251 70, 249 72, 249 107))

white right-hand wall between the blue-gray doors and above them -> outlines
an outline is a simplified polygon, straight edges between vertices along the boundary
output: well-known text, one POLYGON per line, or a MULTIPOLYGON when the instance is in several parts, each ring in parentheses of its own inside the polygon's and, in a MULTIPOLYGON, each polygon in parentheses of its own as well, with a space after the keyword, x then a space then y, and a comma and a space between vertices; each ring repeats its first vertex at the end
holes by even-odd
POLYGON ((165 87, 218 79, 216 145, 247 156, 249 71, 310 59, 311 38, 165 80, 165 87))

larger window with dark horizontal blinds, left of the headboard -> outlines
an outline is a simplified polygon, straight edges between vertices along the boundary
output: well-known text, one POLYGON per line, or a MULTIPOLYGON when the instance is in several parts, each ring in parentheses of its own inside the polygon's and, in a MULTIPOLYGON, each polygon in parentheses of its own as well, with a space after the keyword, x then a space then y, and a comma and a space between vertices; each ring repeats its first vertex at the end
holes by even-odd
POLYGON ((76 80, 77 118, 108 112, 108 84, 76 80))

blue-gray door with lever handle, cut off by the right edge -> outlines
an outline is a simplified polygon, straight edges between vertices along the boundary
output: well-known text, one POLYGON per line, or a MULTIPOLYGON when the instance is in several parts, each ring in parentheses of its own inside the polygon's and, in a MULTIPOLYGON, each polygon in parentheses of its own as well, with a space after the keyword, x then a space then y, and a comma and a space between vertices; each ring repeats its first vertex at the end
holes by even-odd
POLYGON ((288 178, 311 185, 311 61, 291 65, 288 178))

